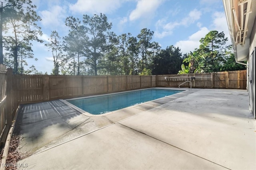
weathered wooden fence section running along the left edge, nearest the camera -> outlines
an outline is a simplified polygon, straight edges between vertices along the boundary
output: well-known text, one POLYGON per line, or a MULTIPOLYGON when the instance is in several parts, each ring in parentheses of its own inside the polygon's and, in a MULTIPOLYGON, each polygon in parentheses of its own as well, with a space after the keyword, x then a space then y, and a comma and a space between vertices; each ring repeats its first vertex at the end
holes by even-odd
POLYGON ((4 145, 12 119, 19 106, 16 93, 12 88, 12 69, 0 64, 0 147, 4 145))

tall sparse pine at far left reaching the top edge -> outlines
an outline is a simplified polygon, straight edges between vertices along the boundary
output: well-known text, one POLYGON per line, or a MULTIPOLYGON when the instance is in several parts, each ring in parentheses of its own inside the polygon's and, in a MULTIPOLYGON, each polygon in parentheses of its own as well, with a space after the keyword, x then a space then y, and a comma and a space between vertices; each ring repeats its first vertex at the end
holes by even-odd
MULTIPOLYGON (((23 63, 26 57, 33 58, 32 43, 31 41, 43 42, 38 38, 42 35, 41 28, 36 24, 41 18, 36 14, 36 6, 32 5, 30 0, 9 0, 12 14, 5 18, 3 23, 4 33, 3 44, 7 51, 7 57, 13 63, 14 73, 22 73, 24 69, 23 63), (16 7, 16 8, 14 8, 16 7), (21 59, 22 57, 22 59, 21 59)), ((8 6, 6 4, 6 6, 8 6)), ((8 8, 5 9, 5 12, 8 8)), ((26 63, 26 62, 24 62, 26 63)))

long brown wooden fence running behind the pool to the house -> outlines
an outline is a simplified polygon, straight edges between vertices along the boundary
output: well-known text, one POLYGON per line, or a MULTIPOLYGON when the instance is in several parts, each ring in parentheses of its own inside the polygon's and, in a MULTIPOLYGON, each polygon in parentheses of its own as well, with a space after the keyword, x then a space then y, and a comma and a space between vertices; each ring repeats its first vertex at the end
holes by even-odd
MULTIPOLYGON (((157 76, 15 75, 12 85, 18 102, 29 103, 156 86, 178 87, 188 77, 195 77, 192 88, 246 89, 246 70, 157 76)), ((180 87, 190 87, 190 84, 180 87)))

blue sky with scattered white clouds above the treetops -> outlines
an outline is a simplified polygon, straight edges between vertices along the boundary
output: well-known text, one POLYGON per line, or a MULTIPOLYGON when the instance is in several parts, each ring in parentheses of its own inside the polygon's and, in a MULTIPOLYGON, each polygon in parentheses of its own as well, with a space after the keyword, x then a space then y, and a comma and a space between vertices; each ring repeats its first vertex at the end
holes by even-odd
POLYGON ((34 64, 39 72, 53 69, 53 57, 44 44, 52 31, 60 37, 68 34, 65 20, 69 16, 82 19, 84 14, 105 14, 116 35, 131 33, 136 37, 143 28, 154 31, 152 41, 162 49, 170 45, 179 47, 182 54, 194 51, 199 40, 209 31, 224 31, 231 44, 222 0, 32 0, 36 12, 42 18, 40 37, 44 43, 33 42, 34 64))

